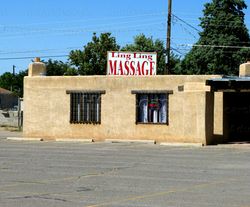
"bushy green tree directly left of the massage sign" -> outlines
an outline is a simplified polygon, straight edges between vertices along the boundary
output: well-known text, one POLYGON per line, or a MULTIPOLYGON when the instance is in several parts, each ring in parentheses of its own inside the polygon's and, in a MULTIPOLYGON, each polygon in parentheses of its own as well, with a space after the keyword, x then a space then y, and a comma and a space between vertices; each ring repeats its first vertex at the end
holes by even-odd
POLYGON ((77 67, 80 75, 105 75, 107 51, 117 51, 117 45, 111 33, 93 34, 92 41, 83 50, 73 50, 69 54, 70 63, 77 67))

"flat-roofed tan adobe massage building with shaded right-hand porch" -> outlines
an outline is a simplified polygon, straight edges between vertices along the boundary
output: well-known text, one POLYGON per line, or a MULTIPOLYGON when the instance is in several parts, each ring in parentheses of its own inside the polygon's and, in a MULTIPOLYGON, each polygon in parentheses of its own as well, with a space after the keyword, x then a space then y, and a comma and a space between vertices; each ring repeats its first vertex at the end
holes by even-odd
POLYGON ((45 76, 39 60, 24 79, 24 137, 250 141, 250 63, 218 75, 45 76), (243 118, 242 118, 243 117, 243 118))

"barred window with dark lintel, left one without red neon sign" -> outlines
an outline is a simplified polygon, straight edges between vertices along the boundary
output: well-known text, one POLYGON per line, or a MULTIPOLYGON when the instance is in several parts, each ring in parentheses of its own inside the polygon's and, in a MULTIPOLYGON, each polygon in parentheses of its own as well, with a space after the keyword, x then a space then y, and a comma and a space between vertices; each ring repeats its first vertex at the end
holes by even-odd
POLYGON ((70 123, 101 123, 101 94, 105 91, 67 91, 67 93, 70 94, 70 123))

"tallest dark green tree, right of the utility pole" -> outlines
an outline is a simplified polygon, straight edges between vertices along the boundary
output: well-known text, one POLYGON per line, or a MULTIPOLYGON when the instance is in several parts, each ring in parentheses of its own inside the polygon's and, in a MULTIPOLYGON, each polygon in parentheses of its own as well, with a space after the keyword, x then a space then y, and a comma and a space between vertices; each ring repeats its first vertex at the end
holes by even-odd
POLYGON ((200 18, 200 38, 182 61, 183 74, 238 73, 239 65, 250 57, 250 38, 244 24, 244 0, 212 0, 200 18))

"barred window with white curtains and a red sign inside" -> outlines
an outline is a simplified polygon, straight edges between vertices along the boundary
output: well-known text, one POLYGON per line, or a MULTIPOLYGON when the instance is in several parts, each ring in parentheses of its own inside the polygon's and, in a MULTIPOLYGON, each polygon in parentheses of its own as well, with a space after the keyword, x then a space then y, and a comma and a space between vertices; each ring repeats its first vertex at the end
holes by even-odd
POLYGON ((171 91, 132 91, 136 94, 137 124, 168 124, 168 96, 171 91))

